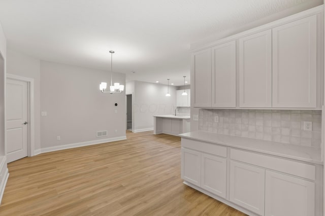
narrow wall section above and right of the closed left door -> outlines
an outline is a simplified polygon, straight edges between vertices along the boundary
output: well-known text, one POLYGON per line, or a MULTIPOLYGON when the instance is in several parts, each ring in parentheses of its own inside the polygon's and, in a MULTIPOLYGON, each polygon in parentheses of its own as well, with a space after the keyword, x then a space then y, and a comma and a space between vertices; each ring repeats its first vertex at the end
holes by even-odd
POLYGON ((40 60, 12 49, 7 51, 7 74, 34 79, 35 150, 41 148, 40 60))

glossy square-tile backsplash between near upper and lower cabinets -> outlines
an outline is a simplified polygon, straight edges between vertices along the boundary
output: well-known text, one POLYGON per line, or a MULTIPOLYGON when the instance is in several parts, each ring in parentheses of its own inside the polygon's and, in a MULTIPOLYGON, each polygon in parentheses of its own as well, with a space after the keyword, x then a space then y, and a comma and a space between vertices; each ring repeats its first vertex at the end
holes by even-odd
POLYGON ((321 111, 200 109, 199 130, 320 147, 321 111), (304 121, 312 122, 312 131, 304 130, 304 121))

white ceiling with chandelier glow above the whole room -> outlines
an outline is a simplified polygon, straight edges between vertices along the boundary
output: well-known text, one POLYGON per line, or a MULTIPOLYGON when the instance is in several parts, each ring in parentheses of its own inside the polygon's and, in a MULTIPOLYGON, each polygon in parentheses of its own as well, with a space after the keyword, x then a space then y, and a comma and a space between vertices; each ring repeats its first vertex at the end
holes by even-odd
POLYGON ((190 83, 191 43, 320 0, 0 0, 7 45, 41 60, 190 83), (134 73, 135 72, 135 73, 134 73))

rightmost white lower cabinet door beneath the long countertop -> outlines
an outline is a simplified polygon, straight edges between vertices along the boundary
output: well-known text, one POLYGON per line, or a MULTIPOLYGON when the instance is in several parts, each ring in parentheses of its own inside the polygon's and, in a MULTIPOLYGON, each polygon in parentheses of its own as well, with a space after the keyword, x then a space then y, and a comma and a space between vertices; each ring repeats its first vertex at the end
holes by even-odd
POLYGON ((266 171, 265 215, 314 215, 315 183, 266 171))

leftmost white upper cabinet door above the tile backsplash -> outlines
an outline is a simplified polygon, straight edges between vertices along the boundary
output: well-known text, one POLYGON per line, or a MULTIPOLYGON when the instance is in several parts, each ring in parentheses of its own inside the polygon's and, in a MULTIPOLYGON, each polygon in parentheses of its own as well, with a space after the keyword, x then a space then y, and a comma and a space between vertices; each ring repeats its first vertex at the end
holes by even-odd
POLYGON ((211 107, 211 49, 192 54, 191 81, 195 107, 211 107))

